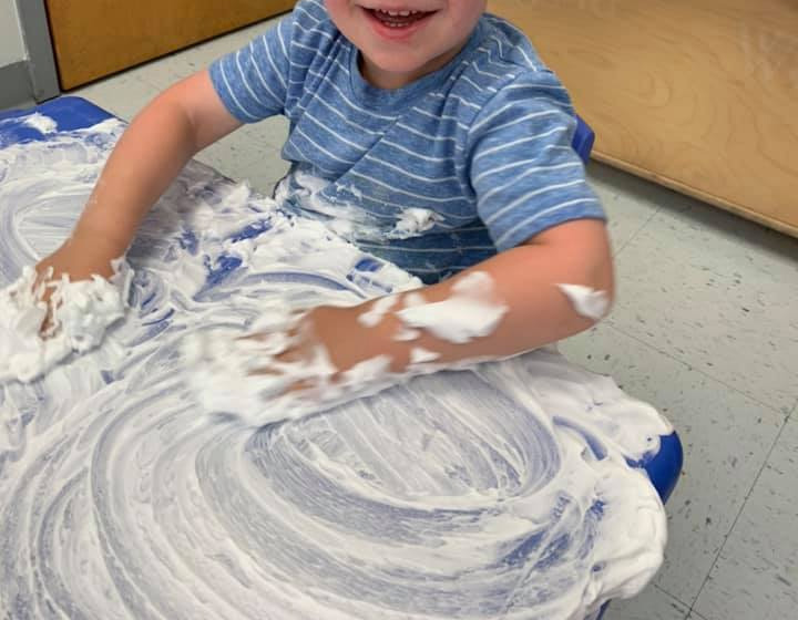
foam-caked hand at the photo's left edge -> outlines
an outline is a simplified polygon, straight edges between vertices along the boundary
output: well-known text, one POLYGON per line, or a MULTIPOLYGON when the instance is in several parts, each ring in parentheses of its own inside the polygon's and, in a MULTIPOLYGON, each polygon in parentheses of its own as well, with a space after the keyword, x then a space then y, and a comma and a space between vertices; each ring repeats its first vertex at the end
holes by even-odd
POLYGON ((124 316, 133 277, 123 260, 114 261, 112 272, 110 280, 71 281, 62 275, 42 282, 28 267, 0 290, 0 382, 31 382, 72 352, 99 345, 124 316))

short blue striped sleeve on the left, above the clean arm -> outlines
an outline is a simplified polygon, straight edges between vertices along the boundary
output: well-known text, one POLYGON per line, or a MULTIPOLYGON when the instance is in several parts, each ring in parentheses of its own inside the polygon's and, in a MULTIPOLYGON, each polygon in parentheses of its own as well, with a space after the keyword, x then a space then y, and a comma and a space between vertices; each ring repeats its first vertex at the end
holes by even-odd
POLYGON ((211 81, 227 111, 242 123, 283 114, 288 92, 294 13, 211 65, 211 81))

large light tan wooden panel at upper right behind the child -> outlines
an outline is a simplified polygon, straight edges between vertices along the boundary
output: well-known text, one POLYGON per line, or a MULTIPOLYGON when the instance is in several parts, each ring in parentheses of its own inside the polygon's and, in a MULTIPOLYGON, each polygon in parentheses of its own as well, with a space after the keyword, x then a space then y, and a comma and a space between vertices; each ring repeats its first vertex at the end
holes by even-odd
POLYGON ((597 159, 798 236, 798 2, 491 0, 595 128, 597 159))

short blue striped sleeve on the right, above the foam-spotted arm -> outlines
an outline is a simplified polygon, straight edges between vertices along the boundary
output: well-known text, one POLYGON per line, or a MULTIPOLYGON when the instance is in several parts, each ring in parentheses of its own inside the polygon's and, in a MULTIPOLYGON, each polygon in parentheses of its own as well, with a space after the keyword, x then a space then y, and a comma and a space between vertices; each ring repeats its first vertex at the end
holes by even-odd
POLYGON ((576 118, 550 71, 526 71, 474 120, 470 179, 477 209, 500 251, 574 219, 605 219, 572 147, 576 118))

